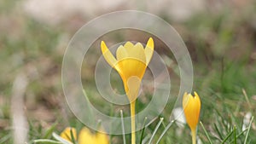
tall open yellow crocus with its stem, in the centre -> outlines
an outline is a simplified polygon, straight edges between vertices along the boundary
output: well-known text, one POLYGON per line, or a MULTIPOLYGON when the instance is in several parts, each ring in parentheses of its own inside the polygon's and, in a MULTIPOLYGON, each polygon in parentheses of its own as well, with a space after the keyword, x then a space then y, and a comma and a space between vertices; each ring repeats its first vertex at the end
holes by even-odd
POLYGON ((119 72, 123 80, 125 93, 131 106, 131 144, 135 144, 135 101, 137 100, 143 75, 154 53, 153 38, 150 37, 148 39, 145 49, 142 43, 126 42, 125 45, 120 45, 116 51, 116 58, 103 41, 101 48, 105 60, 119 72))

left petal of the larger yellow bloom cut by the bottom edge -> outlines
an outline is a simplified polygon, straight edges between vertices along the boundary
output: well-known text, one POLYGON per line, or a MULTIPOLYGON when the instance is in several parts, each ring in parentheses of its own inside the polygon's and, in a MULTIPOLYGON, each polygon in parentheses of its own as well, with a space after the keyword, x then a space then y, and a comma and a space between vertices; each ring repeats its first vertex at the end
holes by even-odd
POLYGON ((79 132, 79 144, 97 144, 95 135, 93 135, 89 129, 84 127, 79 132))

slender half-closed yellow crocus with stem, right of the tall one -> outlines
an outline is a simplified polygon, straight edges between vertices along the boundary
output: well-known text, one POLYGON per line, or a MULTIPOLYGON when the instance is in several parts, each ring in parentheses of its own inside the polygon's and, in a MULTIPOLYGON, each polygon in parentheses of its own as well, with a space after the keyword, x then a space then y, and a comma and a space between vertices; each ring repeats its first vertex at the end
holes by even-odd
POLYGON ((183 111, 191 130, 193 144, 196 142, 196 125, 199 121, 200 110, 201 101, 199 95, 196 92, 194 92, 194 95, 185 93, 183 95, 183 111))

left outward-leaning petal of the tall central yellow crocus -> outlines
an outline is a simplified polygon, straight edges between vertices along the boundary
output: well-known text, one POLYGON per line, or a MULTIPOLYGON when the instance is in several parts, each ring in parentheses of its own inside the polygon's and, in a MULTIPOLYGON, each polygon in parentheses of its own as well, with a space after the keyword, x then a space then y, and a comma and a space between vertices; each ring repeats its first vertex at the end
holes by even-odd
POLYGON ((117 60, 113 57, 112 53, 110 52, 110 50, 108 49, 104 41, 102 41, 101 43, 101 48, 102 48, 102 55, 104 56, 105 60, 107 60, 110 66, 114 67, 115 64, 117 63, 117 60))

